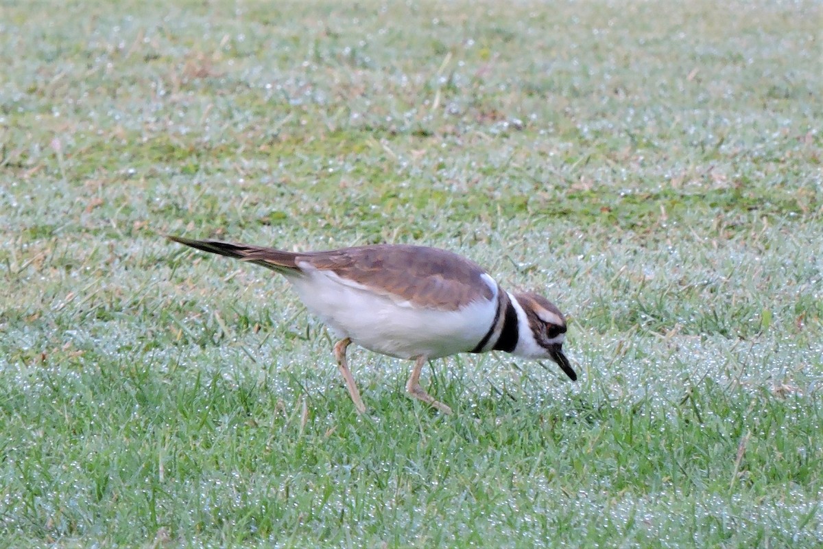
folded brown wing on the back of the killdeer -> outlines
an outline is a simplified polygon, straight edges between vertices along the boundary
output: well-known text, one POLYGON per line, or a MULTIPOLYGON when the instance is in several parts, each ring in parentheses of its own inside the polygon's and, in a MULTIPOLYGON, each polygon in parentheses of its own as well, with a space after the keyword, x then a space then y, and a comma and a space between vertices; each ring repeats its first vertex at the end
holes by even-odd
POLYGON ((444 249, 377 244, 301 254, 295 261, 421 307, 455 310, 494 297, 483 269, 444 249))

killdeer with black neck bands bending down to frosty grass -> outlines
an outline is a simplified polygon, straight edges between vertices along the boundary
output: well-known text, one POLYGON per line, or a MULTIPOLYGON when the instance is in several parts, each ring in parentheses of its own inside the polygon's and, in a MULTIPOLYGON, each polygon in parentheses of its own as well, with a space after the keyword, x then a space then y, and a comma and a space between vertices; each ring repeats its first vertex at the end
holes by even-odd
POLYGON ((563 354, 560 309, 533 293, 509 293, 477 264, 444 249, 376 244, 326 252, 286 252, 219 240, 170 240, 257 263, 284 275, 300 300, 337 336, 337 368, 357 411, 365 412, 346 347, 415 361, 406 389, 441 412, 451 408, 420 386, 426 361, 461 352, 506 351, 551 358, 573 381, 563 354))

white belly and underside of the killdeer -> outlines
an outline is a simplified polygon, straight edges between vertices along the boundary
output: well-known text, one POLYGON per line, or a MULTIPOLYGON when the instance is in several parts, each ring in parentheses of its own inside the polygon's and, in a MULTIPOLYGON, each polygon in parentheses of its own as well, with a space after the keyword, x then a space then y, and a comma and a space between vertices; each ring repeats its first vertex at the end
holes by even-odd
POLYGON ((304 268, 289 277, 300 300, 340 337, 384 355, 439 358, 471 351, 495 318, 497 295, 463 309, 421 309, 344 284, 333 272, 304 268))

